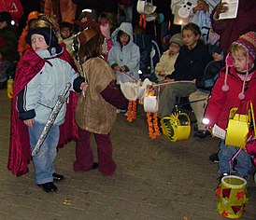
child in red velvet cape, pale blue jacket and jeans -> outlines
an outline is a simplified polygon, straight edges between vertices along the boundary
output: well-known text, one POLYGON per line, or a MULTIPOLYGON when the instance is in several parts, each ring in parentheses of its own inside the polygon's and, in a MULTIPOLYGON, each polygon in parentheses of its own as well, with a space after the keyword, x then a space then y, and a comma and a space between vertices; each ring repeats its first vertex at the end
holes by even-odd
MULTIPOLYGON (((83 82, 84 78, 80 77, 74 69, 72 58, 64 47, 58 44, 58 39, 51 28, 31 29, 26 41, 32 49, 25 52, 17 67, 8 161, 8 168, 17 175, 28 172, 30 149, 28 149, 27 142, 29 141, 31 150, 33 150, 47 123, 52 107, 57 102, 58 96, 63 93, 65 85, 71 83, 71 90, 77 91, 81 89, 85 91, 87 88, 87 84, 83 82), (27 128, 24 128, 24 125, 27 128), (28 133, 29 140, 27 140, 28 133)), ((69 102, 73 103, 74 109, 75 103, 72 100, 70 94, 69 102)), ((36 184, 46 192, 56 191, 57 187, 53 181, 64 179, 63 175, 54 172, 53 161, 57 153, 60 126, 64 124, 66 118, 72 117, 72 112, 68 111, 69 108, 64 103, 38 154, 33 157, 36 184)), ((75 125, 72 119, 66 123, 68 123, 66 126, 72 123, 75 125)), ((65 127, 65 129, 69 128, 71 135, 72 131, 76 131, 76 127, 70 127, 65 127)), ((65 132, 68 131, 65 130, 65 132)), ((74 136, 66 137, 66 139, 74 139, 74 136)))

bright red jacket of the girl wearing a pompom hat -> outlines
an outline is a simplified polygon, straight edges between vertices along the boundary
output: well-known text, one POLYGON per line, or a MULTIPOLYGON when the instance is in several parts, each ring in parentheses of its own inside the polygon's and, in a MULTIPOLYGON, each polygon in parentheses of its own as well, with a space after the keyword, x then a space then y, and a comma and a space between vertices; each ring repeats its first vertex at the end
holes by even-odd
MULTIPOLYGON (((245 101, 251 100, 254 107, 254 115, 256 110, 256 71, 245 87, 245 101)), ((224 85, 225 67, 220 70, 220 77, 217 79, 211 97, 206 107, 205 118, 209 119, 209 127, 217 124, 222 129, 227 128, 229 111, 232 107, 238 107, 240 100, 238 94, 242 91, 243 81, 235 73, 235 68, 232 67, 227 77, 228 91, 223 91, 221 88, 224 85)))

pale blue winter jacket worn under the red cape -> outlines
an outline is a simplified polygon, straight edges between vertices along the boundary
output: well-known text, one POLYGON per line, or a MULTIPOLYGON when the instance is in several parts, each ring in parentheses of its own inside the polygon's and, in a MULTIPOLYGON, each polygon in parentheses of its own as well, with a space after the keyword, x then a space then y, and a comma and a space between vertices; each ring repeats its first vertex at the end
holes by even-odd
MULTIPOLYGON (((47 61, 18 94, 17 108, 21 120, 34 118, 36 122, 45 124, 66 83, 70 82, 73 89, 74 79, 79 75, 68 62, 57 58, 56 53, 51 55, 48 49, 36 51, 36 54, 47 61)), ((54 124, 63 124, 64 115, 65 103, 54 124)))

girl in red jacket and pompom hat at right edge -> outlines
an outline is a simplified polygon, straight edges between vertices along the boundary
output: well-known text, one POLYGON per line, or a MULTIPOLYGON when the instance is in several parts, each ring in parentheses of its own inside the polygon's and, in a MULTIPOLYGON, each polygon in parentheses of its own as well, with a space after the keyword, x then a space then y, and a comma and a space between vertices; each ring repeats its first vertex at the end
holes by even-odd
MULTIPOLYGON (((220 71, 220 77, 212 89, 211 97, 206 107, 204 122, 208 128, 217 124, 221 129, 225 130, 228 124, 230 109, 238 107, 242 100, 251 100, 255 111, 255 55, 255 32, 241 35, 231 45, 226 58, 226 68, 220 71)), ((235 158, 235 170, 230 167, 230 160, 237 151, 237 147, 225 145, 225 141, 221 140, 219 150, 220 177, 236 172, 237 175, 247 180, 249 179, 251 160, 245 150, 240 151, 235 158)))

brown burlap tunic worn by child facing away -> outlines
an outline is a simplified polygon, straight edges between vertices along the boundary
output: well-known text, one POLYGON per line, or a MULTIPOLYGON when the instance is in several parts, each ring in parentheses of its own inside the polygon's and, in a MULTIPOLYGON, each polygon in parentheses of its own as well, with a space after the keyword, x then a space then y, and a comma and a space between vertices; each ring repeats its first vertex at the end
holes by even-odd
POLYGON ((114 72, 101 58, 92 58, 83 63, 88 89, 85 97, 78 97, 76 120, 78 127, 94 133, 107 134, 116 121, 116 107, 107 103, 100 92, 116 79, 114 72))

